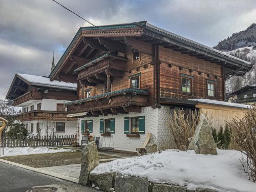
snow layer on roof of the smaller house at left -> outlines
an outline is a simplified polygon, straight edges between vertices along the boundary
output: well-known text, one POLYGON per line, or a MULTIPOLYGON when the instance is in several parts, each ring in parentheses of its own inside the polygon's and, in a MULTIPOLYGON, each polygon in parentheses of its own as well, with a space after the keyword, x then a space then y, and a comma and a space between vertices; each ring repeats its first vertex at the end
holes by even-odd
POLYGON ((28 81, 29 83, 31 83, 32 86, 52 87, 52 88, 61 88, 61 89, 69 89, 69 90, 76 90, 77 88, 76 83, 50 81, 49 77, 20 74, 20 73, 17 73, 17 76, 28 81))

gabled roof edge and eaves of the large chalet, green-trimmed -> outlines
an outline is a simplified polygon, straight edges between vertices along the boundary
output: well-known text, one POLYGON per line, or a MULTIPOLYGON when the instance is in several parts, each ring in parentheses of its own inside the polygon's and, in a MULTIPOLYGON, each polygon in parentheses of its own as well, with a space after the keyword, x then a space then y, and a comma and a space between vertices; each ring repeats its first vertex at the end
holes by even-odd
POLYGON ((63 64, 62 62, 64 62, 69 54, 71 54, 72 48, 78 42, 78 40, 83 37, 84 34, 88 35, 88 37, 97 37, 98 34, 101 36, 105 35, 105 37, 150 36, 154 39, 161 40, 165 44, 185 48, 191 52, 203 54, 205 56, 214 58, 219 62, 223 62, 221 65, 225 65, 224 67, 231 69, 232 71, 237 71, 236 73, 233 73, 236 75, 244 75, 245 72, 249 71, 253 66, 250 62, 244 61, 227 53, 218 51, 214 48, 199 44, 196 41, 158 28, 147 23, 146 21, 141 21, 126 24, 79 28, 67 50, 65 53, 63 53, 54 70, 52 70, 51 74, 49 75, 51 80, 56 77, 58 70, 63 67, 61 66, 63 64))

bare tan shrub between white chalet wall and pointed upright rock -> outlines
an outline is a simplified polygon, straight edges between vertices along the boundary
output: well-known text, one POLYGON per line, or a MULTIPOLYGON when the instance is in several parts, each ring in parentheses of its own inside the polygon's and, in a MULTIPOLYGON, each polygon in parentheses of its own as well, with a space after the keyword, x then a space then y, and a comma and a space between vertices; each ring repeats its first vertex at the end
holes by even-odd
POLYGON ((172 137, 179 150, 185 151, 196 131, 199 115, 192 110, 174 110, 165 117, 165 124, 172 131, 172 137))

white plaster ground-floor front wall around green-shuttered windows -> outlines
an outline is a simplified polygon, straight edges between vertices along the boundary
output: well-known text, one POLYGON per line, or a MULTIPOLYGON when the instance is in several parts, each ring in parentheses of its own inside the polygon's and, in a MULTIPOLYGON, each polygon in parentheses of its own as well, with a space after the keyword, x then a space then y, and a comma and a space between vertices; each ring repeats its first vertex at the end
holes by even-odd
MULTIPOLYGON (((129 113, 129 114, 118 114, 118 115, 108 115, 108 116, 99 116, 99 117, 88 117, 80 119, 81 120, 93 120, 93 133, 94 137, 100 137, 99 144, 102 146, 109 146, 110 137, 102 137, 99 133, 99 119, 102 118, 115 118, 115 134, 113 135, 114 147, 115 150, 130 151, 136 152, 136 147, 141 147, 146 139, 147 132, 152 133, 152 142, 157 143, 157 124, 158 124, 158 109, 152 109, 150 107, 142 108, 141 113, 129 113), (124 134, 124 117, 136 117, 136 116, 145 116, 145 135, 140 135, 140 138, 130 138, 126 137, 124 134), (106 144, 105 144, 106 143, 106 144)), ((80 129, 81 130, 81 129, 80 129)), ((80 131, 80 140, 81 140, 81 131, 80 131)), ((111 141, 110 147, 113 146, 111 141)))

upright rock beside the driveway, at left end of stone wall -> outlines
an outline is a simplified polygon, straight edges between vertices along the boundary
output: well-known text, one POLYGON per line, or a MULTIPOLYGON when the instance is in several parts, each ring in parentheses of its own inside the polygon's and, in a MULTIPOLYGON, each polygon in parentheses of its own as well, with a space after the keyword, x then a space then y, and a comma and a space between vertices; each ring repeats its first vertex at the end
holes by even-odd
POLYGON ((84 146, 81 160, 79 183, 82 185, 88 185, 90 172, 99 164, 99 156, 95 141, 84 146))

